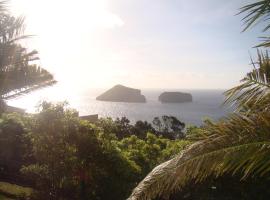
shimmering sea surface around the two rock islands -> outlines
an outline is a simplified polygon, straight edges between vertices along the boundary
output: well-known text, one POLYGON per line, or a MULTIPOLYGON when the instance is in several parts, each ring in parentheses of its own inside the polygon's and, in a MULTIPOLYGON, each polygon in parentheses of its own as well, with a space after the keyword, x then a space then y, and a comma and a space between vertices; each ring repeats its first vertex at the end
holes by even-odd
POLYGON ((211 118, 218 120, 224 117, 232 109, 224 106, 224 90, 168 90, 168 89, 145 89, 146 103, 122 103, 102 102, 95 98, 106 89, 89 89, 87 91, 63 91, 57 88, 44 89, 29 95, 10 100, 9 105, 26 109, 27 112, 37 111, 37 105, 43 100, 69 102, 69 107, 75 108, 80 115, 98 114, 99 117, 127 117, 132 123, 137 120, 152 122, 154 117, 162 115, 176 116, 186 124, 201 125, 202 120, 211 118), (189 92, 193 96, 190 103, 162 104, 158 96, 164 91, 189 92))

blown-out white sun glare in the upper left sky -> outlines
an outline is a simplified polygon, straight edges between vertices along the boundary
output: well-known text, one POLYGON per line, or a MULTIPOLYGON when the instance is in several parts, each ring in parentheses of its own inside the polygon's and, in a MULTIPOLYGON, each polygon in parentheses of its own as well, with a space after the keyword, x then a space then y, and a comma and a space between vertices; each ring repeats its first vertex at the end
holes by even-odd
POLYGON ((100 59, 108 50, 100 45, 99 34, 124 21, 110 11, 107 1, 14 0, 12 8, 26 17, 26 33, 35 35, 28 46, 39 50, 42 66, 59 82, 69 85, 73 79, 72 84, 88 81, 96 86, 96 77, 114 74, 100 59))

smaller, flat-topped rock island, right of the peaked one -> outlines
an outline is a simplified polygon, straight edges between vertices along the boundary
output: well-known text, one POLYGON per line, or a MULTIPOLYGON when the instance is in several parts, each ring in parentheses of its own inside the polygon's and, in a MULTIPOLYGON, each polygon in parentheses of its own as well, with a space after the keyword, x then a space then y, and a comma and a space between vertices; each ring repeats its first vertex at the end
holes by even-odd
POLYGON ((184 103, 192 102, 192 95, 183 92, 163 92, 158 100, 161 103, 184 103))

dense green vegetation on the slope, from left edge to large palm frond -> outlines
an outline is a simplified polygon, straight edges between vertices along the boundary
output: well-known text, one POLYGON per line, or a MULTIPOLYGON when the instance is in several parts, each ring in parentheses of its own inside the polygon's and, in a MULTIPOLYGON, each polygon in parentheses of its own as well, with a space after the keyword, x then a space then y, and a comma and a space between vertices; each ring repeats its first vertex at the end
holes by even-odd
POLYGON ((33 187, 36 199, 125 199, 154 166, 190 144, 150 132, 118 138, 125 128, 138 131, 125 119, 91 124, 64 104, 3 114, 0 177, 33 187))

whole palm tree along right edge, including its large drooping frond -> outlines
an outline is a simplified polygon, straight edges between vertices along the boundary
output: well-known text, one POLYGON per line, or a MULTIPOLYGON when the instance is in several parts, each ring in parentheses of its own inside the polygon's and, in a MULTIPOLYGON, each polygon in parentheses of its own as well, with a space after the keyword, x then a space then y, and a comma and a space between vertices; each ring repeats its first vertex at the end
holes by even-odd
MULTIPOLYGON (((242 8, 247 28, 269 19, 270 0, 242 8)), ((268 28, 270 27, 267 26, 268 28)), ((266 47, 268 44, 265 45, 266 47)), ((157 166, 139 183, 129 200, 149 200, 181 191, 189 183, 225 174, 242 179, 270 176, 270 59, 267 51, 258 51, 254 70, 242 83, 228 90, 227 103, 236 112, 202 128, 199 141, 173 159, 157 166)))

